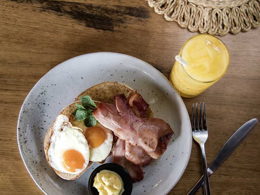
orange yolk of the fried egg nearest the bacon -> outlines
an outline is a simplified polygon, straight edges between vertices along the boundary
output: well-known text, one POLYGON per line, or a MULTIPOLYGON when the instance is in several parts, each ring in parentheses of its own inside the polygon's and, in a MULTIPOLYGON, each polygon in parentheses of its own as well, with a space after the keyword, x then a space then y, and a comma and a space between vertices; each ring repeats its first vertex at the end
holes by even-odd
POLYGON ((106 132, 97 126, 87 128, 85 131, 85 136, 91 148, 100 146, 107 139, 106 132))

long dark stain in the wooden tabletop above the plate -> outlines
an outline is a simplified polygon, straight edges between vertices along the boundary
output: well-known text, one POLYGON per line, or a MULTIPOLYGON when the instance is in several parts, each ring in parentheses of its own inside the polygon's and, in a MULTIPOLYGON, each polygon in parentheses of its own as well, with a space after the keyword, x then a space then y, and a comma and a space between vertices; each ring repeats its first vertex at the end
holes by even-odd
POLYGON ((85 26, 105 31, 116 31, 116 26, 149 18, 147 8, 130 6, 94 5, 79 2, 55 0, 11 0, 17 3, 36 5, 40 12, 51 12, 58 16, 69 17, 85 26), (130 20, 130 21, 129 21, 130 20))

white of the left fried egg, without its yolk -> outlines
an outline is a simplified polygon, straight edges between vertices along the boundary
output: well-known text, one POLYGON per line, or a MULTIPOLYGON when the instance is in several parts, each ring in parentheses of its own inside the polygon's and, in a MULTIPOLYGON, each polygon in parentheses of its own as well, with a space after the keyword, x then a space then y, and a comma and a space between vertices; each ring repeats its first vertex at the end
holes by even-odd
POLYGON ((82 172, 89 162, 89 146, 85 135, 79 128, 73 127, 65 115, 59 115, 53 124, 54 132, 51 136, 51 143, 48 149, 50 165, 64 173, 78 174, 82 172), (67 150, 77 150, 82 154, 85 163, 82 169, 76 169, 76 172, 70 172, 63 166, 63 153, 67 150))

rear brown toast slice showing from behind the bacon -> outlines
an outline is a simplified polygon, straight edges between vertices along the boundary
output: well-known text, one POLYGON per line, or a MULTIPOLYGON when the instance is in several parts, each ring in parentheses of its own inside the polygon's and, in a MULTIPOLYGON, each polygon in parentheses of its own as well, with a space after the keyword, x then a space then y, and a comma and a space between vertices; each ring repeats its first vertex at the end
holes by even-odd
MULTIPOLYGON (((102 82, 88 88, 86 91, 79 94, 75 101, 80 101, 81 96, 89 95, 92 100, 115 104, 114 96, 118 94, 125 94, 125 97, 133 91, 128 85, 119 82, 102 82)), ((153 111, 149 107, 146 113, 147 118, 153 118, 153 111)))

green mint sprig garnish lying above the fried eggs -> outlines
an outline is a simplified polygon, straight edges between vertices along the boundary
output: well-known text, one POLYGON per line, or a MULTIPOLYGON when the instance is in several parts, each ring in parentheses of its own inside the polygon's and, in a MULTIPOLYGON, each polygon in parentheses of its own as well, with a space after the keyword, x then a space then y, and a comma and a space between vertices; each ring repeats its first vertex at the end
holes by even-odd
POLYGON ((81 97, 81 103, 75 104, 76 110, 72 113, 75 116, 77 121, 84 120, 84 124, 86 127, 92 127, 97 124, 97 120, 92 114, 94 108, 97 108, 94 101, 91 99, 90 96, 84 95, 81 97))

